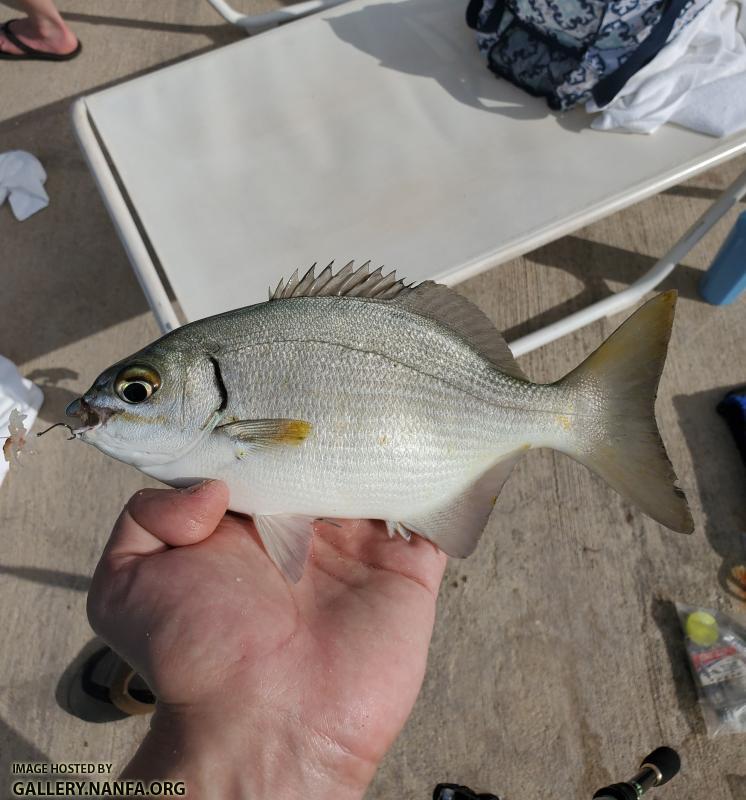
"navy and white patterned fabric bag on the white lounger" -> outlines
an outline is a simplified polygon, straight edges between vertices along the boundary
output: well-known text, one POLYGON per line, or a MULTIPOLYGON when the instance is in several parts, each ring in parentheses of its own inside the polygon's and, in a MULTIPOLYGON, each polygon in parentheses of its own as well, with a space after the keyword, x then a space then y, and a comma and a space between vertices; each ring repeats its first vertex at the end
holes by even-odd
POLYGON ((550 108, 610 103, 711 0, 471 0, 466 21, 497 75, 550 108))

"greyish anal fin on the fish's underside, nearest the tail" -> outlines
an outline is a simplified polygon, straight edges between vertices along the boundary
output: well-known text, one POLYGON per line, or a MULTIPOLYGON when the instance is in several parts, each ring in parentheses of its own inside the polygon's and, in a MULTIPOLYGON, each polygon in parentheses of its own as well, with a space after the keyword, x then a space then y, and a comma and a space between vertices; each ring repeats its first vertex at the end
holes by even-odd
POLYGON ((471 555, 503 484, 527 449, 521 448, 505 456, 450 504, 427 516, 408 518, 402 525, 437 544, 449 556, 466 558, 471 555))

